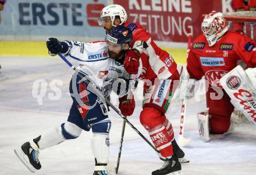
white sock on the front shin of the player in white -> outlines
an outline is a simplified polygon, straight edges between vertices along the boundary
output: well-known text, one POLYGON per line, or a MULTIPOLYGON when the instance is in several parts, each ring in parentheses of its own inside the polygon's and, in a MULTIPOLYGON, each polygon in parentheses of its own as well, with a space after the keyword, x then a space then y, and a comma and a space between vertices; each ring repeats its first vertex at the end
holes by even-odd
POLYGON ((91 149, 98 163, 108 163, 109 161, 109 135, 93 134, 91 138, 91 149))

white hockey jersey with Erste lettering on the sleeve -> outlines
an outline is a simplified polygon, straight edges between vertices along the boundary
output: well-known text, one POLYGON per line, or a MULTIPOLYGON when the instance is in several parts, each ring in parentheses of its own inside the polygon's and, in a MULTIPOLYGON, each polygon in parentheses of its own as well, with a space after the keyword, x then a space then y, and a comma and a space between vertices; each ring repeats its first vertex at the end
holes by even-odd
POLYGON ((94 81, 104 96, 109 96, 112 83, 117 78, 130 79, 123 64, 108 56, 105 41, 83 43, 65 41, 69 49, 64 55, 79 64, 78 70, 94 81))

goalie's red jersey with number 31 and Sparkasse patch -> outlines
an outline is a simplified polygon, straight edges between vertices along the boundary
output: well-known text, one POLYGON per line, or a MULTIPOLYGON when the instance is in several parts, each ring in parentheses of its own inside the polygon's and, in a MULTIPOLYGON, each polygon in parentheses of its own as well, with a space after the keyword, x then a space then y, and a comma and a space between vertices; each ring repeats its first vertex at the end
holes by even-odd
POLYGON ((219 79, 236 67, 239 60, 248 67, 255 67, 255 46, 253 39, 227 31, 214 46, 209 47, 205 36, 201 34, 190 46, 187 71, 191 78, 201 79, 205 75, 211 85, 219 86, 219 79))

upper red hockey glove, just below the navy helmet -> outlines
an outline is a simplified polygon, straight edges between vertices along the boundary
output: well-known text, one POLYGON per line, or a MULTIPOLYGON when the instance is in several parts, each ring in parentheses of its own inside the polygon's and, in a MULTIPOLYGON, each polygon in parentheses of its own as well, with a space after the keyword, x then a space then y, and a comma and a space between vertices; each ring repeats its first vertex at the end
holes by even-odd
POLYGON ((125 56, 124 67, 129 74, 138 74, 138 67, 140 66, 140 57, 136 51, 128 50, 125 56))

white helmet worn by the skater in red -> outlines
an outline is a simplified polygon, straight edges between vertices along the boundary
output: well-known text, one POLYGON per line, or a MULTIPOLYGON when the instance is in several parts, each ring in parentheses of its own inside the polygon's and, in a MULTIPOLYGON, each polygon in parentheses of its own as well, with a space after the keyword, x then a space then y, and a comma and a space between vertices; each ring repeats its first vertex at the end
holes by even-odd
POLYGON ((101 19, 102 17, 110 17, 112 21, 112 26, 114 27, 116 27, 116 25, 114 24, 116 16, 120 17, 121 23, 119 25, 125 23, 127 20, 127 13, 125 9, 118 4, 105 6, 105 8, 101 10, 101 19))

